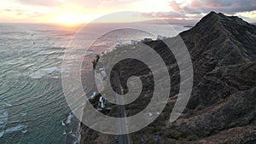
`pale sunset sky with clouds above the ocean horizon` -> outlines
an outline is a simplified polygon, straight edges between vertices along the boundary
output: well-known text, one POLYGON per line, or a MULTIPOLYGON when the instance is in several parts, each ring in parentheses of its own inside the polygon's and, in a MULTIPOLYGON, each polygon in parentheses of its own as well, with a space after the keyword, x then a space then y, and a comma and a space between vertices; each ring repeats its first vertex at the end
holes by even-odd
POLYGON ((212 10, 256 22, 255 0, 1 0, 0 22, 87 23, 120 11, 142 12, 137 20, 197 21, 212 10))

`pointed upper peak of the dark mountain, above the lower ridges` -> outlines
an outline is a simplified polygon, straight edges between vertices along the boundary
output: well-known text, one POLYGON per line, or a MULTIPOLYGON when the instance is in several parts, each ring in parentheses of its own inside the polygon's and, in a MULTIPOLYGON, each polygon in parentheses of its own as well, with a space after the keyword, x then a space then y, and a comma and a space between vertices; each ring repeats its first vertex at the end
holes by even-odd
POLYGON ((195 84, 216 66, 256 60, 256 26, 235 16, 211 12, 187 32, 180 34, 196 70, 195 84))

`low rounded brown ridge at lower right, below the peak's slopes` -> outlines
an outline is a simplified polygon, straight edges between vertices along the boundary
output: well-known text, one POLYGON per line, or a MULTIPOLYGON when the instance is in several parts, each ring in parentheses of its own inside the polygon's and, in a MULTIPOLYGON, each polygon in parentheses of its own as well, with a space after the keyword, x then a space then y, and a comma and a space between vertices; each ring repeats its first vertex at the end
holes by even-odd
POLYGON ((205 137, 221 130, 255 124, 255 95, 256 88, 236 92, 190 118, 178 119, 177 130, 205 137))

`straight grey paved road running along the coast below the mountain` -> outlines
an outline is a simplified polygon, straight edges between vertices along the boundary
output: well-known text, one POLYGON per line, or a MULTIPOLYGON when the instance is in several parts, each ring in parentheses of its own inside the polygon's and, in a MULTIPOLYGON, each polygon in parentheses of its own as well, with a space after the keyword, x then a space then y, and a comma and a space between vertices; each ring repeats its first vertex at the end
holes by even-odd
MULTIPOLYGON (((119 81, 119 75, 117 73, 114 74, 114 83, 118 84, 118 87, 116 89, 116 92, 118 94, 122 94, 122 88, 120 85, 120 81, 119 81)), ((117 97, 118 101, 123 101, 121 97, 117 97)), ((118 106, 118 112, 119 112, 119 118, 125 118, 126 117, 126 113, 125 113, 125 106, 123 105, 119 105, 118 106)), ((126 122, 124 121, 120 121, 119 123, 119 130, 120 132, 124 133, 125 131, 127 131, 127 127, 126 127, 126 122)), ((130 144, 130 138, 129 135, 115 135, 115 139, 117 141, 115 141, 116 144, 130 144)))

